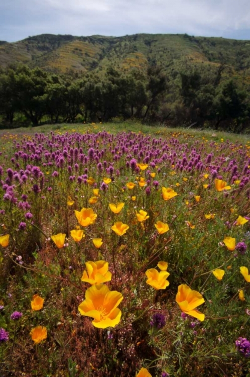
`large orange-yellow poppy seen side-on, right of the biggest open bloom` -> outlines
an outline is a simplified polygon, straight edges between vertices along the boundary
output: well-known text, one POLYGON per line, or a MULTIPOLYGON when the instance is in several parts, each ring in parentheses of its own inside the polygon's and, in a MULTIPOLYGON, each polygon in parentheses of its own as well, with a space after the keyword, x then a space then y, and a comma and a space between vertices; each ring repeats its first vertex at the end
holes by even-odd
POLYGON ((178 287, 178 293, 176 295, 176 302, 179 305, 182 312, 197 318, 200 321, 204 321, 205 315, 195 309, 197 306, 203 304, 205 300, 202 295, 197 291, 192 291, 186 284, 181 284, 178 287))

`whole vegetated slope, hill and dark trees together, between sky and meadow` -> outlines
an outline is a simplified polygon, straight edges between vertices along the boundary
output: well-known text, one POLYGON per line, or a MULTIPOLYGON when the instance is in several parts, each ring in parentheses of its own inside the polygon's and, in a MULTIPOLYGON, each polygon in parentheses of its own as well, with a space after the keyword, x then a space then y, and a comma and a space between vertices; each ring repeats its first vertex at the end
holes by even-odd
POLYGON ((249 41, 187 34, 43 34, 0 44, 0 66, 5 127, 15 126, 15 120, 37 125, 133 117, 234 132, 249 128, 249 41), (33 80, 31 91, 25 77, 33 80), (22 98, 32 105, 24 106, 22 98), (34 107, 40 114, 35 119, 34 107))

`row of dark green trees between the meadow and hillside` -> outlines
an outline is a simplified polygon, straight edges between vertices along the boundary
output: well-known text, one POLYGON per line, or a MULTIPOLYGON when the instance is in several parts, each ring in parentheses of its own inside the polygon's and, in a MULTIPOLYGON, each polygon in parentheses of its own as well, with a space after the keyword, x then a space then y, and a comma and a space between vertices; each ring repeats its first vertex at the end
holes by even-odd
POLYGON ((0 71, 0 125, 106 122, 119 117, 244 132, 249 128, 249 87, 222 79, 224 69, 220 64, 207 74, 187 67, 171 80, 154 64, 147 72, 108 67, 102 76, 9 67, 0 71))

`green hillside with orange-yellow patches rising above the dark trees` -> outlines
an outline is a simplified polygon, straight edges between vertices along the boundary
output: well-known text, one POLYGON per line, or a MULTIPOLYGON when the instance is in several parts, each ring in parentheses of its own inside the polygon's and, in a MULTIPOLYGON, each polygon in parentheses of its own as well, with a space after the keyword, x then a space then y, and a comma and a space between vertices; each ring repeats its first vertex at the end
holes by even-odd
POLYGON ((21 63, 56 73, 119 70, 160 64, 174 77, 187 64, 214 70, 221 63, 230 75, 249 82, 250 41, 192 37, 187 34, 135 34, 124 37, 75 37, 42 34, 0 43, 0 66, 21 63))

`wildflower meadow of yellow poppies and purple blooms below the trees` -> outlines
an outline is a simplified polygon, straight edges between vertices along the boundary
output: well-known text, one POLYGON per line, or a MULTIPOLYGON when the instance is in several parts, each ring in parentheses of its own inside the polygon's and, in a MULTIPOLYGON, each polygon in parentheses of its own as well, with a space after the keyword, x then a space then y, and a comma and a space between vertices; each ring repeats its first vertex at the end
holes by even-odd
POLYGON ((249 139, 152 130, 0 135, 1 377, 250 376, 249 139))

